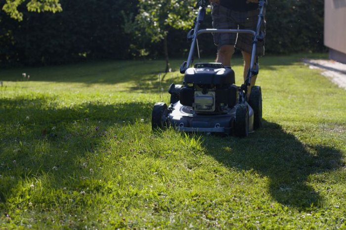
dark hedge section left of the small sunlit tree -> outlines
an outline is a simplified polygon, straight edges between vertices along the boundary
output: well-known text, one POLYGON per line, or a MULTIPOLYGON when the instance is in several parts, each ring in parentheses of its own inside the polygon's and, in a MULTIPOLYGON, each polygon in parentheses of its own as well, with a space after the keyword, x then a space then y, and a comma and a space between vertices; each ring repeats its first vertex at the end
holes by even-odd
POLYGON ((58 14, 23 9, 24 20, 0 12, 0 61, 26 65, 63 64, 81 60, 130 58, 120 10, 135 12, 136 4, 117 0, 60 0, 58 14), (133 8, 132 8, 133 7, 133 8))

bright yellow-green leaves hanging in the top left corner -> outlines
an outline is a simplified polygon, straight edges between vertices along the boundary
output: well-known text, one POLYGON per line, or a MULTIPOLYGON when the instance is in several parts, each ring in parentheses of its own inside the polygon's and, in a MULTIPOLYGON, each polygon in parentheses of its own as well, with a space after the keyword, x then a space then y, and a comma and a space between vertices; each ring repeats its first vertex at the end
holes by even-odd
POLYGON ((28 11, 32 12, 61 12, 62 7, 59 3, 59 0, 6 0, 6 3, 3 5, 2 10, 5 11, 11 18, 18 21, 23 20, 23 13, 19 12, 18 7, 27 2, 26 6, 28 11))

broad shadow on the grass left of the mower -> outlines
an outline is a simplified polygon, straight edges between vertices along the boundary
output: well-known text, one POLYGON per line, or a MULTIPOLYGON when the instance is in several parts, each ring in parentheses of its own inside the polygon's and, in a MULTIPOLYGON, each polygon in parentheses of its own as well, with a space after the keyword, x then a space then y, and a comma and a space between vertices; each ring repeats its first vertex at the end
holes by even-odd
POLYGON ((111 128, 146 119, 151 109, 141 102, 59 108, 47 97, 0 99, 0 204, 25 199, 23 184, 35 178, 48 176, 52 188, 78 188, 79 178, 90 176, 81 159, 114 138, 111 128))

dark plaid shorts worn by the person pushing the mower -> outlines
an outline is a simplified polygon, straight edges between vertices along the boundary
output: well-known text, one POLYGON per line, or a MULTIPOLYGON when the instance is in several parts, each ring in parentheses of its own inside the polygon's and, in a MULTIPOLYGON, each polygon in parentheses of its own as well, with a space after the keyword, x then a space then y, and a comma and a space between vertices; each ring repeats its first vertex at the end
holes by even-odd
MULTIPOLYGON (((264 12, 263 12, 264 14, 264 12)), ((234 11, 219 4, 213 4, 214 29, 247 29, 256 31, 259 10, 234 11)), ((265 20, 261 30, 265 32, 265 20)), ((236 48, 251 53, 253 36, 250 34, 214 34, 214 42, 219 49, 222 45, 235 45, 236 48)), ((264 55, 264 40, 257 43, 257 55, 264 55)))

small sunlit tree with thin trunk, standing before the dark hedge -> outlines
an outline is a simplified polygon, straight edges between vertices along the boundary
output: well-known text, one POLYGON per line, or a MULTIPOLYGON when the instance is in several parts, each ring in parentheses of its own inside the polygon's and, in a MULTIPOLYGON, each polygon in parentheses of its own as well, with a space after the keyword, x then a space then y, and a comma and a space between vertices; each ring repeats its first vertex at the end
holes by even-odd
POLYGON ((189 29, 196 15, 196 0, 139 0, 135 22, 152 42, 164 42, 166 70, 170 71, 167 37, 171 29, 189 29))

